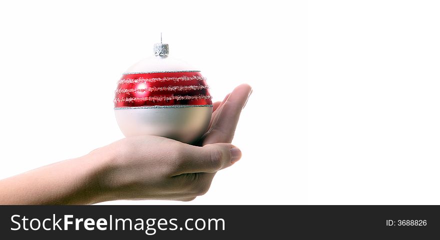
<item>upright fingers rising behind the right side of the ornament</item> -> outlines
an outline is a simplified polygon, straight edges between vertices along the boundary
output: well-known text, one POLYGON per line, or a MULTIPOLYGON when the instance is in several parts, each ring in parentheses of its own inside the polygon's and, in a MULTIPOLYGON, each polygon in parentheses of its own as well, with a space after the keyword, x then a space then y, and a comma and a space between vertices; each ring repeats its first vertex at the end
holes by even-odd
POLYGON ((251 90, 249 85, 241 84, 223 100, 213 114, 209 131, 203 136, 203 145, 232 141, 241 109, 246 104, 251 90))

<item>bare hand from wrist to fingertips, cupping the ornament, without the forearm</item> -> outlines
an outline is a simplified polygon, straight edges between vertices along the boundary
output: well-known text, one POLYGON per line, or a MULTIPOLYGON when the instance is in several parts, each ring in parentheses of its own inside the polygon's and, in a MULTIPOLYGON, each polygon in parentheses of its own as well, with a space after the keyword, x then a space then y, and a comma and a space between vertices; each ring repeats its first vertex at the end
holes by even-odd
POLYGON ((215 173, 241 157, 240 150, 227 143, 250 93, 250 86, 242 84, 213 104, 209 128, 200 141, 203 147, 154 136, 125 138, 107 146, 119 152, 112 170, 100 181, 101 196, 190 201, 206 193, 215 173))

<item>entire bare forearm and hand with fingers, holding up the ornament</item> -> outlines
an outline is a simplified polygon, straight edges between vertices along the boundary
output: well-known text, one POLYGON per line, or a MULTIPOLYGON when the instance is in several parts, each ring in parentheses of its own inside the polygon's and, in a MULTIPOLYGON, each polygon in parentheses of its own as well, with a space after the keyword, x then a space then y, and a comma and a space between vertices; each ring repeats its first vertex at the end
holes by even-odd
POLYGON ((119 199, 189 201, 241 152, 230 144, 251 88, 214 103, 199 146, 155 136, 121 139, 89 154, 0 180, 0 205, 93 204, 119 199))

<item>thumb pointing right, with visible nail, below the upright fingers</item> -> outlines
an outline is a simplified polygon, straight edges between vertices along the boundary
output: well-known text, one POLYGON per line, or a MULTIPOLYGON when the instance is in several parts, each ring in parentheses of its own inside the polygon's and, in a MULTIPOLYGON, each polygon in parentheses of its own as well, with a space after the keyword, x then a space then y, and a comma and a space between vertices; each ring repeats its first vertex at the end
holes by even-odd
POLYGON ((185 153, 181 156, 181 174, 215 173, 238 161, 241 151, 230 143, 214 143, 203 147, 185 148, 185 153))

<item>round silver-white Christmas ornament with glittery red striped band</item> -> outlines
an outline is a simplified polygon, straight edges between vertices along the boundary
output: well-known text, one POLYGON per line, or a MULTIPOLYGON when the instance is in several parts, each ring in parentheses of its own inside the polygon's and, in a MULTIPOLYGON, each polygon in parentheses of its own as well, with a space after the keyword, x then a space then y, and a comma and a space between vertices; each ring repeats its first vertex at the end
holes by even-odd
POLYGON ((117 83, 114 113, 126 136, 155 135, 193 143, 212 114, 208 85, 200 71, 168 56, 168 44, 154 44, 154 56, 129 67, 117 83))

